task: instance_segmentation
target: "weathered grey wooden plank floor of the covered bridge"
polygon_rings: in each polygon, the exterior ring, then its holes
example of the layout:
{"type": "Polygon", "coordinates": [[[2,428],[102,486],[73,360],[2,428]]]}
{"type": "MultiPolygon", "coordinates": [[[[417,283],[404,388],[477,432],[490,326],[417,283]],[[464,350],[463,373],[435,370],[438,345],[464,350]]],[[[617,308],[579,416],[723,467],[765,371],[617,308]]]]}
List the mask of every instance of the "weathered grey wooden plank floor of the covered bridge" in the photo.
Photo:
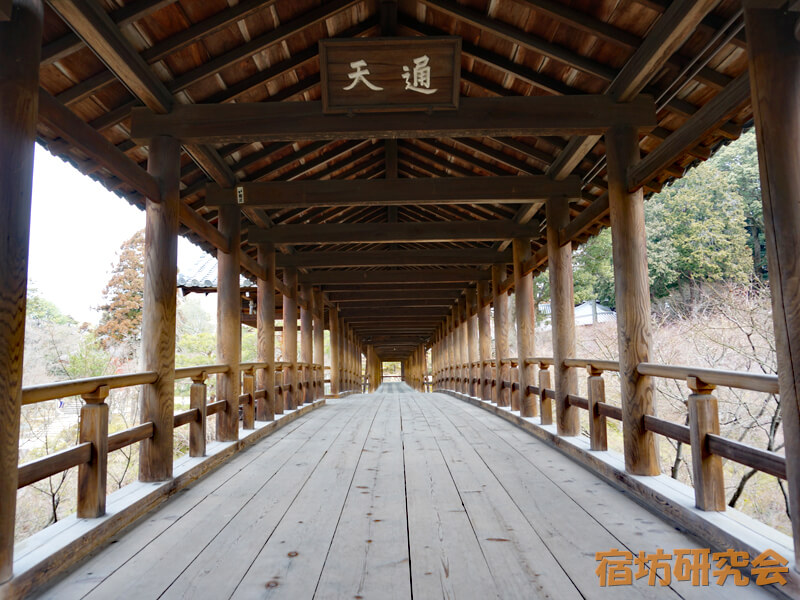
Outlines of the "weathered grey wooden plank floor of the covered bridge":
{"type": "Polygon", "coordinates": [[[395,383],[237,455],[40,597],[773,597],[598,584],[597,551],[701,547],[511,424],[395,383]]]}

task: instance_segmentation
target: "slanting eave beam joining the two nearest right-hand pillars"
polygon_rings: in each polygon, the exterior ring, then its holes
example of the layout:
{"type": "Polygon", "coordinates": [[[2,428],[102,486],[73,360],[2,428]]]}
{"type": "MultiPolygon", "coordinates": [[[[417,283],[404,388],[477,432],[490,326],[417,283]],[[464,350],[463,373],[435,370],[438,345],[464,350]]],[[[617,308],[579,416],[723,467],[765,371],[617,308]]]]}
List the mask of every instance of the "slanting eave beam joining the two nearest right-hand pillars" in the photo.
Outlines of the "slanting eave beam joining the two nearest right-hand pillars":
{"type": "Polygon", "coordinates": [[[673,164],[686,148],[697,144],[749,101],[750,76],[745,71],[631,168],[628,189],[635,191],[644,186],[659,171],[673,164]]]}

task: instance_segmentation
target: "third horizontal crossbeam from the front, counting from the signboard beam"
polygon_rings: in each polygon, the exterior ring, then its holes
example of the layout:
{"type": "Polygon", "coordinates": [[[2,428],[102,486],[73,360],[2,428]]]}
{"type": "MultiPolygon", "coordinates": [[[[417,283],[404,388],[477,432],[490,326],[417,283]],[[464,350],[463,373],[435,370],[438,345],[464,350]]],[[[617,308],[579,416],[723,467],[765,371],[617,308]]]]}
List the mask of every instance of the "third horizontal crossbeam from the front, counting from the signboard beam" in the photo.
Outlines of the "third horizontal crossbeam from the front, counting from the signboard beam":
{"type": "Polygon", "coordinates": [[[538,223],[508,220],[436,221],[423,223],[331,223],[252,228],[248,241],[274,244],[393,244],[507,240],[536,235],[538,223]]]}

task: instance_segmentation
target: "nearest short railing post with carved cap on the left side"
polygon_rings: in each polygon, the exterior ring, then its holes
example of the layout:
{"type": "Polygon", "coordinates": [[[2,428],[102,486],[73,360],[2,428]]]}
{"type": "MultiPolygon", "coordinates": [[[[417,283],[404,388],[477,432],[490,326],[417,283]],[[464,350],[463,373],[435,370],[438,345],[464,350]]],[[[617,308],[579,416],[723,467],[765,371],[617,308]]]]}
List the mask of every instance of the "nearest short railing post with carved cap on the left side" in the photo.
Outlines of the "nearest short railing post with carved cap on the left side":
{"type": "Polygon", "coordinates": [[[82,444],[92,444],[92,458],[78,467],[78,518],[92,519],[106,514],[108,477],[108,386],[101,385],[81,398],[80,435],[82,444]]]}

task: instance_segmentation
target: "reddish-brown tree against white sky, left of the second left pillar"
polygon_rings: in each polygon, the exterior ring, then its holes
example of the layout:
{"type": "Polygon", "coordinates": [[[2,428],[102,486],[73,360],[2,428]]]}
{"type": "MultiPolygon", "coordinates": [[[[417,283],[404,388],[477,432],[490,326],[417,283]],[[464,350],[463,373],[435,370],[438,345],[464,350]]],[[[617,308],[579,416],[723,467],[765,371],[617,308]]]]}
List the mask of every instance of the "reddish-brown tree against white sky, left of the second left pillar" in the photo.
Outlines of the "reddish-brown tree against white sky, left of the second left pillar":
{"type": "Polygon", "coordinates": [[[120,246],[119,259],[111,272],[100,307],[103,316],[97,336],[105,347],[141,339],[144,302],[144,230],[120,246]]]}

